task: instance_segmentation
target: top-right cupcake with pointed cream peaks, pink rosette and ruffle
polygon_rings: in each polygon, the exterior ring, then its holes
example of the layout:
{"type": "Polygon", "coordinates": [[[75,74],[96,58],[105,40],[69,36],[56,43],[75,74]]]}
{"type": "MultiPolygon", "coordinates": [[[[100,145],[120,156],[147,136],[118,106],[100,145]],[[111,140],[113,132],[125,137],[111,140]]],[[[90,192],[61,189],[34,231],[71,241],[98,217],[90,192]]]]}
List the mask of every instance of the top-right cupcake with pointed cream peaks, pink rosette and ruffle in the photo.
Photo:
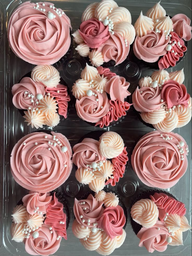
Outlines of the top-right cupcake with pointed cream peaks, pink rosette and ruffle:
{"type": "Polygon", "coordinates": [[[184,14],[171,18],[160,2],[141,14],[134,24],[133,51],[137,59],[155,69],[175,67],[187,51],[191,39],[190,19],[184,14]]]}

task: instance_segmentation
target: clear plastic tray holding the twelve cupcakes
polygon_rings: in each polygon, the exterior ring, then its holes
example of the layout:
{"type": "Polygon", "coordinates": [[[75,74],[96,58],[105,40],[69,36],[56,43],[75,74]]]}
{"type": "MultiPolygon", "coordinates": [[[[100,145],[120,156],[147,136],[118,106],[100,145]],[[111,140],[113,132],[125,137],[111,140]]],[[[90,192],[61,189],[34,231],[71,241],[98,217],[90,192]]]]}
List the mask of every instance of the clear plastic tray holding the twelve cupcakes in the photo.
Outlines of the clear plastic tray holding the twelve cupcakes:
{"type": "MultiPolygon", "coordinates": [[[[23,1],[22,1],[23,2],[23,1]]],[[[81,23],[81,15],[86,6],[92,2],[92,0],[71,0],[71,1],[49,1],[54,2],[56,7],[62,8],[65,13],[71,19],[73,31],[79,28],[81,23]]],[[[143,13],[153,6],[152,3],[145,2],[131,2],[131,1],[116,1],[119,6],[126,7],[129,9],[132,16],[132,24],[136,21],[140,15],[141,10],[143,13]]],[[[15,8],[19,6],[21,1],[15,0],[9,4],[5,12],[6,26],[8,24],[11,13],[15,8]]],[[[184,13],[191,18],[191,10],[182,4],[168,4],[163,3],[163,7],[166,9],[167,14],[173,16],[178,13],[184,13]]],[[[60,72],[61,77],[72,86],[76,79],[80,77],[81,69],[83,68],[83,60],[79,58],[76,51],[74,51],[75,44],[67,58],[57,64],[57,68],[60,72]]],[[[10,51],[8,42],[5,44],[5,60],[6,60],[6,72],[5,72],[5,127],[6,127],[6,141],[5,141],[5,182],[4,182],[4,237],[3,243],[7,250],[14,255],[27,256],[23,243],[16,243],[11,240],[10,226],[11,226],[11,211],[17,202],[28,193],[28,191],[20,187],[15,181],[10,172],[10,153],[15,143],[26,134],[35,131],[31,127],[24,123],[24,119],[20,113],[16,110],[12,103],[11,87],[17,83],[20,78],[32,70],[33,65],[22,61],[10,51]]],[[[1,63],[0,63],[1,65],[1,63]]],[[[183,61],[181,61],[176,68],[171,68],[168,72],[182,69],[184,67],[185,81],[184,84],[187,86],[187,90],[191,95],[191,41],[188,43],[187,54],[183,61]]],[[[127,76],[127,80],[130,80],[131,85],[129,87],[130,92],[133,92],[138,84],[138,80],[141,76],[151,75],[152,70],[146,67],[137,67],[134,63],[125,61],[120,67],[114,67],[113,71],[118,74],[127,76]],[[141,72],[140,72],[141,71],[141,72]]],[[[89,126],[76,115],[74,107],[71,108],[67,120],[61,121],[61,123],[54,129],[54,131],[63,133],[70,141],[71,147],[73,147],[78,140],[86,133],[97,130],[93,126],[89,126]]],[[[49,129],[50,130],[50,129],[49,129]]],[[[135,175],[130,165],[130,154],[133,147],[140,137],[145,133],[152,131],[151,128],[146,127],[142,124],[137,117],[135,112],[130,110],[128,115],[119,122],[116,126],[109,127],[108,130],[117,131],[124,139],[125,145],[128,149],[129,162],[126,168],[124,177],[120,179],[116,187],[108,186],[107,189],[116,190],[118,195],[124,201],[129,213],[130,203],[134,198],[143,190],[149,189],[149,187],[143,185],[135,175]]],[[[186,217],[191,223],[191,122],[182,127],[181,129],[175,129],[174,132],[179,133],[188,142],[189,156],[188,156],[188,170],[180,181],[170,191],[175,197],[185,203],[187,208],[186,217]]],[[[68,202],[70,208],[70,225],[67,230],[68,240],[64,239],[61,242],[61,246],[55,255],[98,255],[96,252],[87,251],[80,243],[79,239],[75,238],[71,226],[74,219],[73,214],[73,203],[75,196],[81,196],[89,190],[88,186],[80,185],[75,179],[75,168],[73,167],[72,173],[69,179],[60,187],[58,191],[65,196],[65,200],[68,202]]],[[[1,200],[1,199],[0,199],[1,200]]],[[[129,216],[129,214],[128,214],[129,216]]],[[[124,244],[116,249],[111,255],[151,255],[145,248],[138,247],[139,239],[131,229],[129,220],[125,231],[127,236],[124,244]]],[[[166,252],[158,253],[155,252],[153,255],[189,255],[188,248],[191,245],[191,231],[187,231],[183,236],[184,246],[168,246],[166,252]]]]}

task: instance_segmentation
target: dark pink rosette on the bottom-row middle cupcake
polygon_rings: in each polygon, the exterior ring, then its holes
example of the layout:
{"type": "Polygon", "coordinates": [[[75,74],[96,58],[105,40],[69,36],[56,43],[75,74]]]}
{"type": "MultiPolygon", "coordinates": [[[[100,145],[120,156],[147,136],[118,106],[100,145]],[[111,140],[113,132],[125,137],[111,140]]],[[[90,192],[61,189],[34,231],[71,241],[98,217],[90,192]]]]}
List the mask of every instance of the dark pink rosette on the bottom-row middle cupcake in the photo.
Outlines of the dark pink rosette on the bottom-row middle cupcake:
{"type": "Polygon", "coordinates": [[[123,234],[125,222],[124,211],[120,205],[105,208],[103,214],[99,220],[97,220],[98,226],[103,229],[111,239],[123,234]]]}

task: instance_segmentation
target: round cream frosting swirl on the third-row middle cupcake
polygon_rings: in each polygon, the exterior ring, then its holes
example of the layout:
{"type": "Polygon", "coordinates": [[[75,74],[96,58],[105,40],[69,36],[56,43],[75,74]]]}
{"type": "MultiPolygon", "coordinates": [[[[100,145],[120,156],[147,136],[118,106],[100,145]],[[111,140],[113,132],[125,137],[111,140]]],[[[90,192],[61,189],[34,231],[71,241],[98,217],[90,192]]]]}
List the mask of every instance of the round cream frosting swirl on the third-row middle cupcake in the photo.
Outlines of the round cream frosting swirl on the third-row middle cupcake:
{"type": "Polygon", "coordinates": [[[99,152],[106,158],[115,158],[120,155],[124,149],[124,142],[121,136],[116,132],[105,132],[99,138],[99,152]]]}

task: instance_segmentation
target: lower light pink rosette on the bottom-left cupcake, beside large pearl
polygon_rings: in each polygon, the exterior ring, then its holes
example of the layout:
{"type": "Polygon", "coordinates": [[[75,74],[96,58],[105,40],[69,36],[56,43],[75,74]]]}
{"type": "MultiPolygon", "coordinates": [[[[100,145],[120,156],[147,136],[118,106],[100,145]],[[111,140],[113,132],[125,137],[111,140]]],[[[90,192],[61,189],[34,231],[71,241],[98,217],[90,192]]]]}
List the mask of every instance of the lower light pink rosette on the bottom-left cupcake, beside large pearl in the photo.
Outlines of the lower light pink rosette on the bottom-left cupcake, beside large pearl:
{"type": "Polygon", "coordinates": [[[57,240],[57,232],[53,230],[53,233],[50,233],[50,226],[43,225],[38,229],[39,236],[38,238],[29,238],[25,239],[25,250],[31,255],[43,255],[48,256],[50,254],[55,254],[59,249],[61,237],[57,240]]]}

